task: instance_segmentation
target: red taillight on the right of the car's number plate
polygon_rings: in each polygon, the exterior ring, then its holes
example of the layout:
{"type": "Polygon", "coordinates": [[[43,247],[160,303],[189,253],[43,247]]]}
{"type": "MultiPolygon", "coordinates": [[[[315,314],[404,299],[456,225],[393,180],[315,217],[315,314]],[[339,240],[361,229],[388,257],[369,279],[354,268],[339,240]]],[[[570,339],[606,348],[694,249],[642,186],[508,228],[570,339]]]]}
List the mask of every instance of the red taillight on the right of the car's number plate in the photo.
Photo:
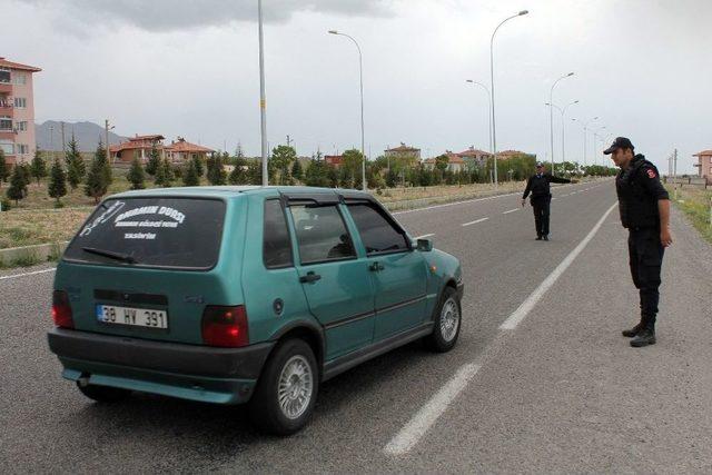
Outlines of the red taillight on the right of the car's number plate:
{"type": "Polygon", "coordinates": [[[208,305],[202,313],[202,343],[210,346],[237,347],[249,343],[245,307],[208,305]]]}

